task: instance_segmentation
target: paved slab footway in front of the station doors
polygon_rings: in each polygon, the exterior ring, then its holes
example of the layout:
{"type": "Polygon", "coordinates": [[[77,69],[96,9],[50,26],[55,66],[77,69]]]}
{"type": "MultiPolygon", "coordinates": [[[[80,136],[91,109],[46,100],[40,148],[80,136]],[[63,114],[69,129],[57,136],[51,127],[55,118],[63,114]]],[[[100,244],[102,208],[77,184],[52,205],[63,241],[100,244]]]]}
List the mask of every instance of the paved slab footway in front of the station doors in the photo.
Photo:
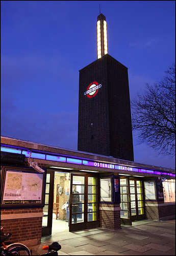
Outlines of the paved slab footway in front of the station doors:
{"type": "Polygon", "coordinates": [[[53,242],[62,246],[59,255],[175,255],[175,220],[133,222],[121,229],[93,228],[63,231],[42,237],[41,244],[29,247],[32,255],[53,242]]]}

